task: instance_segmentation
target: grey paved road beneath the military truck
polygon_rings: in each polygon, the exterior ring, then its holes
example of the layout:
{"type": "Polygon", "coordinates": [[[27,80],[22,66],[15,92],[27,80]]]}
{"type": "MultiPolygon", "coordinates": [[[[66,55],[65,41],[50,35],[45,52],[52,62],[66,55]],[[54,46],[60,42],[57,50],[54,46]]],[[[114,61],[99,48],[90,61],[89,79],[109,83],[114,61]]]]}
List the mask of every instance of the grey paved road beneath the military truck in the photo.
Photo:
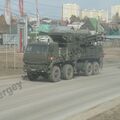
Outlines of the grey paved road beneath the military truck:
{"type": "Polygon", "coordinates": [[[0,120],[64,120],[120,96],[120,64],[96,76],[50,83],[22,78],[0,80],[0,91],[22,82],[22,89],[0,99],[0,120]]]}

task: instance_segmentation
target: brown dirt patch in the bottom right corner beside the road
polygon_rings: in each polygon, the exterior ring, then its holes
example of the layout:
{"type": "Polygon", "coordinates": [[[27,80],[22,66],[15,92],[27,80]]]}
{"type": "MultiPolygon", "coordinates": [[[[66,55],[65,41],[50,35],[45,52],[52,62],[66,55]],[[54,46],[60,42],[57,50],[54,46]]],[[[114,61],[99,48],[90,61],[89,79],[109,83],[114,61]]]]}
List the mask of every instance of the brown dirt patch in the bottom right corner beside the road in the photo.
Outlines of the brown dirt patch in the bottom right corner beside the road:
{"type": "Polygon", "coordinates": [[[120,120],[120,105],[88,120],[120,120]]]}

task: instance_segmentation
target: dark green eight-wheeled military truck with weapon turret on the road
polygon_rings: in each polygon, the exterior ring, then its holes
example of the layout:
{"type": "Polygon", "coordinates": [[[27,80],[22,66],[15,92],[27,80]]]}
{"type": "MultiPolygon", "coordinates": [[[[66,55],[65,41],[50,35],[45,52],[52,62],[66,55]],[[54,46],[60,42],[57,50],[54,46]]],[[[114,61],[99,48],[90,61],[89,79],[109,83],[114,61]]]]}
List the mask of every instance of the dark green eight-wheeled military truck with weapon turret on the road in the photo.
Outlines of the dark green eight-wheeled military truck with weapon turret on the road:
{"type": "Polygon", "coordinates": [[[44,76],[57,82],[70,80],[79,73],[96,75],[103,66],[102,41],[102,35],[86,32],[41,33],[24,53],[28,78],[44,76]]]}

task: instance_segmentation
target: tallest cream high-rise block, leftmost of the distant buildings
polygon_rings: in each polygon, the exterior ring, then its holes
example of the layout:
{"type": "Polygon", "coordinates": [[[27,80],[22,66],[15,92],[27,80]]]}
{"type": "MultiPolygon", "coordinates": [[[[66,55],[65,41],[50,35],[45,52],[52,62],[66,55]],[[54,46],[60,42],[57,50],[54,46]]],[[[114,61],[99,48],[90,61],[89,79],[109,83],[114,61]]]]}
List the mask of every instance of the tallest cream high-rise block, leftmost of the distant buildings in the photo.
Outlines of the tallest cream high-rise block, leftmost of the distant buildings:
{"type": "Polygon", "coordinates": [[[72,15],[80,16],[80,6],[77,4],[63,4],[63,20],[70,20],[72,15]]]}

